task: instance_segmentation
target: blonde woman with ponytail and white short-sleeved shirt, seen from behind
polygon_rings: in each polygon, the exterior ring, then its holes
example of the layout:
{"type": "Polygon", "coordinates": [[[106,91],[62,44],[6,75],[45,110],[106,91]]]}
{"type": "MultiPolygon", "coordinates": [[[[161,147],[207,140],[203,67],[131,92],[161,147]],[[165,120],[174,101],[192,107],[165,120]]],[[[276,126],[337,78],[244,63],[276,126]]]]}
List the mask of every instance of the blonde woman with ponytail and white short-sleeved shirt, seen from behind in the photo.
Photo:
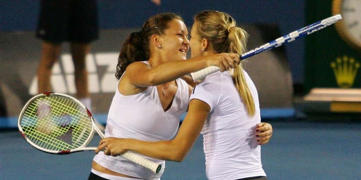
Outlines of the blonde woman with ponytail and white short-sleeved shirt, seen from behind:
{"type": "MultiPolygon", "coordinates": [[[[246,43],[247,33],[229,14],[207,10],[195,16],[190,40],[192,58],[242,54],[246,43]]],[[[188,113],[174,139],[105,138],[96,153],[106,148],[106,155],[117,156],[130,150],[180,162],[201,133],[208,179],[266,180],[260,145],[269,141],[272,129],[261,123],[257,90],[251,78],[241,64],[232,70],[209,75],[193,88],[188,113]]]]}

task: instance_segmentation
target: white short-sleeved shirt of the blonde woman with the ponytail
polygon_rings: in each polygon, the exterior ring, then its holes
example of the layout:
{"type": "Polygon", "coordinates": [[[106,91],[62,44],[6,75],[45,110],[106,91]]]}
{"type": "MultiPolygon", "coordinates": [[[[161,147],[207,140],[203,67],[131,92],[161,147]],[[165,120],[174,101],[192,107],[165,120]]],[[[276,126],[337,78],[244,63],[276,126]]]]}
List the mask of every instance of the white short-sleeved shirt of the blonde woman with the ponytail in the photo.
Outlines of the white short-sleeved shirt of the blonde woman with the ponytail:
{"type": "Polygon", "coordinates": [[[202,100],[211,108],[201,131],[209,180],[266,176],[261,146],[256,140],[256,124],[261,122],[258,94],[251,78],[243,72],[255,101],[253,117],[248,116],[228,72],[209,75],[194,87],[190,97],[202,100]]]}

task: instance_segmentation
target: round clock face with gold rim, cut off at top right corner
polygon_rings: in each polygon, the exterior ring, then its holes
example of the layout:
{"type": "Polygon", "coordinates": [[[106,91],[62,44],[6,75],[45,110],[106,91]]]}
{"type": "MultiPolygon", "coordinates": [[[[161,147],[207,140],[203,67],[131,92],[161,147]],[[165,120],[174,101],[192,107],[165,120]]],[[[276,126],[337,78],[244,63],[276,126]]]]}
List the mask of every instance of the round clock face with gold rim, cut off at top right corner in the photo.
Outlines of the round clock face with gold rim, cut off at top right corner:
{"type": "Polygon", "coordinates": [[[334,0],[332,11],[342,15],[342,20],[336,23],[340,35],[361,49],[361,0],[334,0]]]}

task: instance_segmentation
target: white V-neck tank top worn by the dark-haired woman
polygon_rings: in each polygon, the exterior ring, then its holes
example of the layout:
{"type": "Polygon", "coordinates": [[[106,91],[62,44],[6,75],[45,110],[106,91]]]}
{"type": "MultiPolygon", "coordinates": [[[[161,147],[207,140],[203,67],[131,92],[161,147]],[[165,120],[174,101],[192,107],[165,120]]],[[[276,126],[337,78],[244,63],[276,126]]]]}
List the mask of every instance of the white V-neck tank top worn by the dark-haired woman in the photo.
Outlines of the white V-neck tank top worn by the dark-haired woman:
{"type": "MultiPolygon", "coordinates": [[[[122,95],[117,90],[106,120],[105,137],[133,138],[144,141],[173,138],[177,133],[179,120],[187,110],[189,99],[187,83],[181,79],[177,79],[176,82],[177,93],[166,112],[160,103],[156,86],[149,86],[144,92],[129,96],[122,95]]],[[[158,174],[120,156],[112,157],[99,153],[93,160],[109,170],[128,176],[160,179],[164,172],[165,161],[146,158],[162,164],[162,169],[158,174]]]]}

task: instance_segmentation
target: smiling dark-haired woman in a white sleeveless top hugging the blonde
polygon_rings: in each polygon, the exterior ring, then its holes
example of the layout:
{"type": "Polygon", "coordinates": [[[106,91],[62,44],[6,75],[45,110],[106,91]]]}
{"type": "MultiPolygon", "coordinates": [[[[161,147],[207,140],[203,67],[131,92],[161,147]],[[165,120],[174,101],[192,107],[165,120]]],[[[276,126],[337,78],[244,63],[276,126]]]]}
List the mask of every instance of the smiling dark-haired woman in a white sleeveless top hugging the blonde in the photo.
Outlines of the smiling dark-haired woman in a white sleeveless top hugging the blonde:
{"type": "MultiPolygon", "coordinates": [[[[173,13],[147,19],[142,30],[131,33],[121,48],[116,93],[110,105],[105,136],[145,141],[169,140],[188,107],[192,87],[179,79],[209,66],[226,71],[240,62],[236,53],[220,53],[186,60],[188,31],[183,19],[173,13]]],[[[164,160],[154,174],[123,157],[97,154],[89,176],[94,179],[160,179],[164,160]]]]}

